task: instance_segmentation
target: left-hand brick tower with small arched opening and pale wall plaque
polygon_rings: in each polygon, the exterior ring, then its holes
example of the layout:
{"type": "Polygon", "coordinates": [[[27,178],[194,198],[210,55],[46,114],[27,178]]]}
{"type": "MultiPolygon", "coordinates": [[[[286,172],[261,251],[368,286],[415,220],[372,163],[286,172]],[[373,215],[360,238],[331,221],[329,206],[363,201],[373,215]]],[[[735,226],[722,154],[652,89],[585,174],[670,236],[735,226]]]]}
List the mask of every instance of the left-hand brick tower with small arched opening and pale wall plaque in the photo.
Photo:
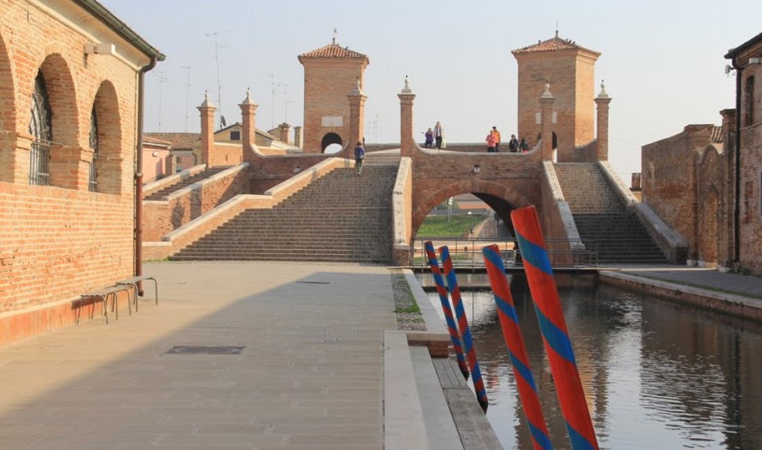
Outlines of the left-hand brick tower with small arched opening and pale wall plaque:
{"type": "Polygon", "coordinates": [[[339,46],[334,38],[327,46],[299,55],[299,62],[304,65],[304,152],[347,145],[351,138],[347,94],[357,88],[358,80],[363,88],[370,59],[339,46]]]}

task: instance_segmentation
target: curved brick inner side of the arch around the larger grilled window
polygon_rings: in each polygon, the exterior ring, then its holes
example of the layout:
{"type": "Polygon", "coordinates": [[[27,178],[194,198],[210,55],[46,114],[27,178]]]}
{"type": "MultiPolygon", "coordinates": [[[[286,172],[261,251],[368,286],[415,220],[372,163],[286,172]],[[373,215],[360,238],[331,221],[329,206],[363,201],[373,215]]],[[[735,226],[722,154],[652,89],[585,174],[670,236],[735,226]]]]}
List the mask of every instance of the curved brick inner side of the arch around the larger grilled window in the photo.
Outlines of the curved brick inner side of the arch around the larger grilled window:
{"type": "Polygon", "coordinates": [[[40,65],[38,75],[50,104],[50,184],[77,189],[80,119],[72,72],[66,59],[52,53],[40,65]]]}

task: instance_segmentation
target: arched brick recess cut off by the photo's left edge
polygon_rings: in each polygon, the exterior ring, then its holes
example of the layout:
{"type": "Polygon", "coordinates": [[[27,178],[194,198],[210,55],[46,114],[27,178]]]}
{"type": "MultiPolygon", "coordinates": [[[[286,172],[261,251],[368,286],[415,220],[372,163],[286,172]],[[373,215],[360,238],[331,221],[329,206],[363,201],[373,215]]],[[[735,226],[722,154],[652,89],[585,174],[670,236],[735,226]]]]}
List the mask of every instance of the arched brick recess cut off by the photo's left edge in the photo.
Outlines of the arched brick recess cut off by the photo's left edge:
{"type": "Polygon", "coordinates": [[[16,152],[15,142],[6,142],[16,131],[16,89],[11,73],[11,59],[8,57],[8,47],[5,46],[3,28],[0,27],[0,181],[12,181],[13,168],[11,161],[16,152]]]}

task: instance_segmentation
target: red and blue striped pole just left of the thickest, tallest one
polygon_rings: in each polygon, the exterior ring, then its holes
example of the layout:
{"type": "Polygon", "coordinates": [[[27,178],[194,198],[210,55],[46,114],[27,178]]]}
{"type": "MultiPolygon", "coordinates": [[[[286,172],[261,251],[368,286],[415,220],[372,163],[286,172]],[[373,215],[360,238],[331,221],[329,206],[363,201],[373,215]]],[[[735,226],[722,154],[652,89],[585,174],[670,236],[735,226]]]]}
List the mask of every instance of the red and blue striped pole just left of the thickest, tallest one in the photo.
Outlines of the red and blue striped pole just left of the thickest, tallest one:
{"type": "Polygon", "coordinates": [[[527,348],[524,346],[519,317],[516,313],[514,298],[511,295],[511,287],[505,277],[505,266],[500,257],[500,249],[492,244],[482,248],[484,263],[489,276],[489,284],[492,286],[492,294],[495,296],[495,304],[498,305],[498,318],[503,330],[505,346],[508,349],[508,357],[516,377],[516,385],[527,416],[529,431],[532,435],[532,443],[536,450],[551,450],[548,427],[543,416],[543,408],[539,404],[537,385],[534,382],[532,370],[529,364],[527,348]]]}

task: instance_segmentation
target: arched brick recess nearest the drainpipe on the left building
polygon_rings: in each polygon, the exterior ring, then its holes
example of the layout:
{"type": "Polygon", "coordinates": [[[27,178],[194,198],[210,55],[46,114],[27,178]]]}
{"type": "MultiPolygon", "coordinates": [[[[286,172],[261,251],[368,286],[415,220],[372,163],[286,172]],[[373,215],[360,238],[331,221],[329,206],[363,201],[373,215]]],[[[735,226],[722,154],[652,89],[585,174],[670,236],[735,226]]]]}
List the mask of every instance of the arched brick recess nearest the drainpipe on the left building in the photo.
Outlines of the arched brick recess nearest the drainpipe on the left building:
{"type": "Polygon", "coordinates": [[[111,81],[102,81],[98,87],[92,106],[90,129],[92,167],[96,175],[94,190],[118,194],[121,192],[123,170],[122,120],[117,90],[111,81]],[[93,121],[97,126],[93,126],[93,121]],[[93,145],[96,147],[93,148],[93,145]]]}

